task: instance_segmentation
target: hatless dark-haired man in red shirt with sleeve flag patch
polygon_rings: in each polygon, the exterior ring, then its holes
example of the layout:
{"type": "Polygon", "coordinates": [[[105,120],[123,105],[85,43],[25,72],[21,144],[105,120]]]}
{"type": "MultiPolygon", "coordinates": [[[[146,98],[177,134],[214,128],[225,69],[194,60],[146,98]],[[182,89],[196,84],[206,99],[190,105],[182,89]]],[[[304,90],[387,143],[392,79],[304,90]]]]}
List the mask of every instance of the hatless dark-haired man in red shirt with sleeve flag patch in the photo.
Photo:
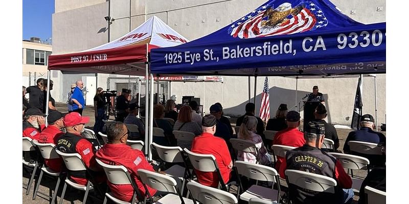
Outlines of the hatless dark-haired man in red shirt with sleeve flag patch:
{"type": "MultiPolygon", "coordinates": [[[[138,177],[138,169],[146,169],[155,171],[153,167],[146,161],[145,155],[138,149],[132,149],[126,145],[128,139],[128,130],[124,123],[115,122],[108,126],[107,129],[108,143],[105,144],[96,153],[96,157],[102,162],[109,165],[122,165],[128,169],[132,179],[138,186],[138,191],[142,196],[146,196],[145,188],[142,181],[138,177]]],[[[116,198],[130,202],[133,195],[133,187],[130,184],[111,184],[107,181],[109,189],[116,198]]],[[[155,189],[148,185],[149,194],[153,196],[156,193],[155,189]]],[[[138,200],[143,198],[138,197],[138,200]]]]}

